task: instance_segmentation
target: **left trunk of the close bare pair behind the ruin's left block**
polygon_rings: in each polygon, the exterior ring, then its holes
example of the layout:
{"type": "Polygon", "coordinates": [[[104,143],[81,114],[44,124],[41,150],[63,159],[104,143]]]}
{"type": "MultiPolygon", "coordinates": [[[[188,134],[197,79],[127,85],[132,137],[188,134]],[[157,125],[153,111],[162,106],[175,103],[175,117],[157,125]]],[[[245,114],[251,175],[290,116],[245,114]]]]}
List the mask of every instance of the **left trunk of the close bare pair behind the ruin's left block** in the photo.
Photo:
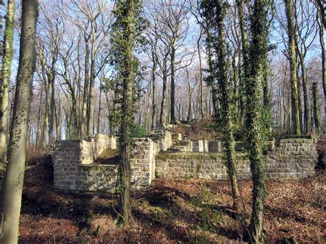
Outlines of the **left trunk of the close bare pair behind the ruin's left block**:
{"type": "Polygon", "coordinates": [[[84,81],[84,95],[83,95],[83,109],[81,116],[81,135],[87,134],[87,115],[88,115],[88,98],[89,98],[89,45],[87,38],[85,38],[86,53],[85,53],[85,81],[84,81]]]}

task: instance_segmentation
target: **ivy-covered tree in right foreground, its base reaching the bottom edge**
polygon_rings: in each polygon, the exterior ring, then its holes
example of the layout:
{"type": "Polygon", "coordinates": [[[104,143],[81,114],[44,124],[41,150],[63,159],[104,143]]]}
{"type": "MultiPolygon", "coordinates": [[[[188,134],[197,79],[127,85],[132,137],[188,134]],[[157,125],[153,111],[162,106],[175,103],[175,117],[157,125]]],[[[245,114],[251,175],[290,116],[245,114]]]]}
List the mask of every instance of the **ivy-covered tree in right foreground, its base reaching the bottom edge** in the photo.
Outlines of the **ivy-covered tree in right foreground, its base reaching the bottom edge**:
{"type": "Polygon", "coordinates": [[[255,0],[250,14],[250,47],[248,77],[246,77],[247,131],[250,169],[252,173],[252,241],[263,241],[263,205],[265,201],[265,162],[262,153],[261,98],[264,65],[268,51],[268,0],[255,0]]]}

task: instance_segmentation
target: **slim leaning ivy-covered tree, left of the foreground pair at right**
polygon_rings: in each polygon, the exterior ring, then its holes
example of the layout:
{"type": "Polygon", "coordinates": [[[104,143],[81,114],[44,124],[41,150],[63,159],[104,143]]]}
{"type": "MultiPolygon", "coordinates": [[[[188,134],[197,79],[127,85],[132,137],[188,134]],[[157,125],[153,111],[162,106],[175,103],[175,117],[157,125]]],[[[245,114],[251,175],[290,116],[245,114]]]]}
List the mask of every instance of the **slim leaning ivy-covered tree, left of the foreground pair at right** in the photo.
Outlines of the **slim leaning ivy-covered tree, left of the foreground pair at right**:
{"type": "Polygon", "coordinates": [[[224,132],[224,153],[226,156],[226,165],[228,167],[228,175],[230,178],[233,206],[237,207],[239,200],[239,186],[237,182],[237,174],[235,171],[235,140],[232,133],[232,116],[231,116],[231,78],[230,78],[230,62],[228,60],[228,47],[226,44],[226,30],[224,20],[228,8],[228,3],[224,0],[207,0],[202,1],[202,14],[206,19],[213,21],[210,25],[212,30],[211,45],[216,54],[215,56],[215,72],[213,73],[217,85],[219,86],[219,104],[221,105],[221,118],[215,116],[217,122],[221,122],[224,132]]]}

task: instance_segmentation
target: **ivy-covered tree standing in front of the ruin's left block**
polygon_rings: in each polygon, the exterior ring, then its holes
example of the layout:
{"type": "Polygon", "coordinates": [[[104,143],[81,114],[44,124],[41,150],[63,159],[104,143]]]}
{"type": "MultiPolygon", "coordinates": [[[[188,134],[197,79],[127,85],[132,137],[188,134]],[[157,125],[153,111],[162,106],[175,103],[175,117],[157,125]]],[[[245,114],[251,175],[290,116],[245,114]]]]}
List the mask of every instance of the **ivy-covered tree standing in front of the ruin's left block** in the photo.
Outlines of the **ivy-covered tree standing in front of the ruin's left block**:
{"type": "Polygon", "coordinates": [[[116,3],[116,22],[111,38],[111,61],[116,69],[116,93],[120,98],[120,153],[122,164],[118,188],[120,190],[120,217],[124,224],[131,223],[131,131],[135,117],[134,87],[138,80],[138,61],[134,56],[136,38],[141,38],[142,18],[140,0],[122,0],[116,3]],[[137,79],[136,79],[137,78],[137,79]]]}

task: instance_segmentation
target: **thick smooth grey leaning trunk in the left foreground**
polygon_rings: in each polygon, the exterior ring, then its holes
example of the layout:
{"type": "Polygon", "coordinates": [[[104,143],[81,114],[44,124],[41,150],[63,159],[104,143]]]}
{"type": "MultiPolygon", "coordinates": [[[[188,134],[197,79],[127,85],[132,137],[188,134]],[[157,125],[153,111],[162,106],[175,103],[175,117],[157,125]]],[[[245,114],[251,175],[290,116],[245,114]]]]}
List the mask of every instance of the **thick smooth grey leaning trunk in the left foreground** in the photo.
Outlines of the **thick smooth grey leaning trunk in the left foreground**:
{"type": "Polygon", "coordinates": [[[8,168],[3,181],[1,243],[18,242],[21,193],[26,161],[26,139],[35,65],[37,12],[37,0],[23,0],[17,88],[12,113],[8,168]]]}

